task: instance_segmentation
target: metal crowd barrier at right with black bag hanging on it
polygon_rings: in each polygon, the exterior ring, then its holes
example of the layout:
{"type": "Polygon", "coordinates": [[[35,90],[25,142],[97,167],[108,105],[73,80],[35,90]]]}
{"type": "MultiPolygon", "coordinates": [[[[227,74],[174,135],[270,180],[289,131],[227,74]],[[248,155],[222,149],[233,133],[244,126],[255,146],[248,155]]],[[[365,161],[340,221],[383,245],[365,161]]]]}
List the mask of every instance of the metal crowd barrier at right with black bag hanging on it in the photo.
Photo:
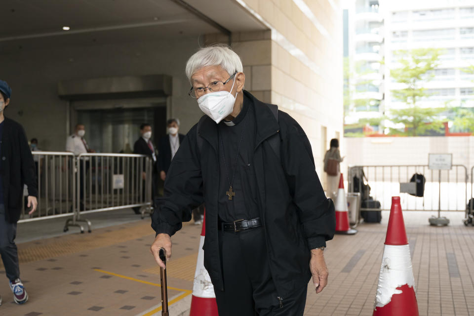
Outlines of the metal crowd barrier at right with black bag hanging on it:
{"type": "Polygon", "coordinates": [[[348,169],[349,192],[361,192],[357,186],[361,182],[355,183],[355,177],[362,180],[363,175],[371,188],[370,197],[380,201],[382,210],[390,210],[392,196],[400,196],[403,210],[465,212],[468,197],[473,194],[464,165],[453,165],[451,170],[431,170],[428,165],[352,166],[348,169]],[[400,194],[400,183],[410,182],[415,173],[426,178],[424,196],[400,194]]]}

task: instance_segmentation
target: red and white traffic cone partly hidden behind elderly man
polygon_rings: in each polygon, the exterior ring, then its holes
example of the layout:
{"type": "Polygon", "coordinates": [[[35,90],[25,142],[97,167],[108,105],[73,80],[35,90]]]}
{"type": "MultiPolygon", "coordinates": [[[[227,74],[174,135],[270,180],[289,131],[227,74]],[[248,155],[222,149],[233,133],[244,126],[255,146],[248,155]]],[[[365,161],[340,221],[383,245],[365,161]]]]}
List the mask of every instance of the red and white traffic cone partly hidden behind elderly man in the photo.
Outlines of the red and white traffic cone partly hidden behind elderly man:
{"type": "Polygon", "coordinates": [[[199,253],[197,254],[196,273],[194,274],[193,297],[191,299],[190,316],[218,316],[216,295],[211,278],[204,268],[204,235],[206,232],[206,213],[202,220],[201,238],[199,241],[199,253]]]}

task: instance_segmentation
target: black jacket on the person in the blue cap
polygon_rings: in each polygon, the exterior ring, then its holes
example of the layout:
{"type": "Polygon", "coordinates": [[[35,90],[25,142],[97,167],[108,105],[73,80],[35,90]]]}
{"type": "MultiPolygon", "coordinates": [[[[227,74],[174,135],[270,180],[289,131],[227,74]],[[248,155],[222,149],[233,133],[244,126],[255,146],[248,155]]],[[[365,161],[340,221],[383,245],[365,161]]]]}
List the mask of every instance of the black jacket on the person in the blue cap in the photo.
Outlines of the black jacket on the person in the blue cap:
{"type": "Polygon", "coordinates": [[[23,186],[28,195],[38,197],[36,166],[23,127],[12,119],[3,121],[0,173],[7,220],[16,223],[22,208],[23,186]]]}

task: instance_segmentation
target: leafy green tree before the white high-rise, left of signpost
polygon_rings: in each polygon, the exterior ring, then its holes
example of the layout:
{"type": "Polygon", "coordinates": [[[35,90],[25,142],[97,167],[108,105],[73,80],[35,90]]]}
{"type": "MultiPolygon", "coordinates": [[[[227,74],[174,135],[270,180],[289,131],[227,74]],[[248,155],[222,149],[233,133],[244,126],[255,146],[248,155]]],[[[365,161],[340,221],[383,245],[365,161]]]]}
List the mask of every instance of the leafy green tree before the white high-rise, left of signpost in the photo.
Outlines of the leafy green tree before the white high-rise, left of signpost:
{"type": "Polygon", "coordinates": [[[421,98],[429,96],[423,84],[433,79],[430,74],[438,65],[440,50],[435,48],[417,48],[399,50],[399,67],[392,69],[390,75],[395,82],[403,87],[392,90],[395,99],[407,105],[406,109],[391,110],[390,120],[404,124],[404,130],[391,128],[391,133],[406,136],[423,135],[428,131],[439,131],[443,128],[439,114],[446,111],[445,107],[421,108],[417,105],[421,98]]]}

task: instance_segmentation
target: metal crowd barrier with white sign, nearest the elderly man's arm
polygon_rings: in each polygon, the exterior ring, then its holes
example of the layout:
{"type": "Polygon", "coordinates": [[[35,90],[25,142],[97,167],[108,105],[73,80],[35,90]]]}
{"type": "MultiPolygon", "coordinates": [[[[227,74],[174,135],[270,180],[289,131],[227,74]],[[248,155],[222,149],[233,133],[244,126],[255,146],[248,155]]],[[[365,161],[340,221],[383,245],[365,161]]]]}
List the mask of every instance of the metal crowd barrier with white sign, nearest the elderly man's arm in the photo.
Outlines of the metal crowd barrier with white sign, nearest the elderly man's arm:
{"type": "MultiPolygon", "coordinates": [[[[133,154],[80,154],[77,159],[76,209],[68,226],[91,223],[81,214],[139,207],[142,218],[152,208],[152,160],[133,154]]],[[[82,228],[81,228],[82,230],[82,228]]]]}

